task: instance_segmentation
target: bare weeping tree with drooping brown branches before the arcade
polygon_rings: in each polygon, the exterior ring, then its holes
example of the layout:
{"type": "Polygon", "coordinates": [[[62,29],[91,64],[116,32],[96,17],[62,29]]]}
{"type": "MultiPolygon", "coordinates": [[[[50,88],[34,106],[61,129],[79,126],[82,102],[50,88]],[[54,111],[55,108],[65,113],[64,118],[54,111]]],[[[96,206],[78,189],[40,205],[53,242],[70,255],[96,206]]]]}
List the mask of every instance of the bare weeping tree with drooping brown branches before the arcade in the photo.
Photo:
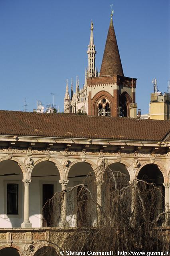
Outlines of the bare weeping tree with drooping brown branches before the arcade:
{"type": "Polygon", "coordinates": [[[91,175],[83,183],[55,193],[47,201],[45,207],[51,232],[48,241],[38,242],[40,247],[46,246],[42,252],[40,250],[41,256],[55,255],[55,252],[49,252],[51,246],[57,252],[61,249],[78,252],[113,250],[115,253],[118,250],[168,251],[168,234],[162,228],[165,212],[158,212],[158,201],[163,200],[159,188],[144,180],[129,184],[127,176],[112,170],[107,161],[101,166],[101,205],[97,202],[97,185],[91,175]],[[53,227],[62,224],[61,208],[65,194],[68,228],[56,229],[53,227]]]}

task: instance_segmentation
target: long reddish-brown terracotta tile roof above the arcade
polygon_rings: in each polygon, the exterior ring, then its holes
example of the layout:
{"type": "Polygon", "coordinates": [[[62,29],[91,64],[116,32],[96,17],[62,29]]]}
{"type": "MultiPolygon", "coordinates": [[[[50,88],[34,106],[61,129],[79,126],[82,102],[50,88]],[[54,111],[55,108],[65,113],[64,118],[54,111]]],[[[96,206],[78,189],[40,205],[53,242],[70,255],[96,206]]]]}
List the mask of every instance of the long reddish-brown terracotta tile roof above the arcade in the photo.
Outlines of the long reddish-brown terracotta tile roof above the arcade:
{"type": "Polygon", "coordinates": [[[0,135],[161,141],[170,121],[0,110],[0,135]]]}

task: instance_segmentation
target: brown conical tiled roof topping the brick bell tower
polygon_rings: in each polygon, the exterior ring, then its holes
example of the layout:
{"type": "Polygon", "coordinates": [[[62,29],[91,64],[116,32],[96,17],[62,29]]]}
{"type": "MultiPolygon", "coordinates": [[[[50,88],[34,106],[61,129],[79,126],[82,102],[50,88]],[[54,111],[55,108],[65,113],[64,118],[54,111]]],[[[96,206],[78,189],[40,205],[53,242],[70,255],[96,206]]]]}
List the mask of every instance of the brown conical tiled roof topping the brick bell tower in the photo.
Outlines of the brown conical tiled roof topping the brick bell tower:
{"type": "Polygon", "coordinates": [[[112,17],[111,17],[111,22],[110,22],[106,45],[105,45],[105,51],[103,54],[103,60],[101,64],[100,76],[112,76],[112,75],[124,76],[123,68],[121,64],[121,58],[119,55],[119,49],[117,46],[115,30],[113,26],[112,17]]]}

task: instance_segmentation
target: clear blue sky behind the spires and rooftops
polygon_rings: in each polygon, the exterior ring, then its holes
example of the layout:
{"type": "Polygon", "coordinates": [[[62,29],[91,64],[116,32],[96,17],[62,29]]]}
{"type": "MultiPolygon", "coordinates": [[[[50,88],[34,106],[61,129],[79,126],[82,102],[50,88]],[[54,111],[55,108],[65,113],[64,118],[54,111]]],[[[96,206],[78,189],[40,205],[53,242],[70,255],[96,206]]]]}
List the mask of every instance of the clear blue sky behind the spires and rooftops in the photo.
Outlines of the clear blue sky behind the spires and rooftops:
{"type": "Polygon", "coordinates": [[[63,111],[66,79],[84,83],[90,23],[101,67],[110,4],[125,76],[138,78],[136,102],[148,112],[152,79],[170,79],[169,0],[0,0],[0,109],[27,110],[53,102],[63,111]]]}

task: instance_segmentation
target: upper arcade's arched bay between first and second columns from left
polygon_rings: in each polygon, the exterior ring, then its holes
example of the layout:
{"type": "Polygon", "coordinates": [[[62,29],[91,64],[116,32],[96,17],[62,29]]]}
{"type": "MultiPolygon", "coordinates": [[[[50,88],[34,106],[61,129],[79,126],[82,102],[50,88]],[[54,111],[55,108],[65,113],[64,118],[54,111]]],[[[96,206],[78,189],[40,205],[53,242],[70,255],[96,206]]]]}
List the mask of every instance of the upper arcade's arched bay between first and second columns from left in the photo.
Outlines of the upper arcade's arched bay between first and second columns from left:
{"type": "MultiPolygon", "coordinates": [[[[49,227],[52,224],[53,201],[61,191],[59,180],[65,180],[61,164],[53,158],[39,158],[30,170],[30,221],[33,227],[49,227]],[[49,204],[47,203],[49,202],[49,204]],[[51,202],[51,203],[50,203],[51,202]],[[46,204],[47,203],[47,204],[46,204]],[[50,206],[49,206],[50,205],[50,206]]],[[[59,210],[59,208],[58,208],[59,210]]],[[[58,225],[58,219],[55,226],[58,225]]]]}

